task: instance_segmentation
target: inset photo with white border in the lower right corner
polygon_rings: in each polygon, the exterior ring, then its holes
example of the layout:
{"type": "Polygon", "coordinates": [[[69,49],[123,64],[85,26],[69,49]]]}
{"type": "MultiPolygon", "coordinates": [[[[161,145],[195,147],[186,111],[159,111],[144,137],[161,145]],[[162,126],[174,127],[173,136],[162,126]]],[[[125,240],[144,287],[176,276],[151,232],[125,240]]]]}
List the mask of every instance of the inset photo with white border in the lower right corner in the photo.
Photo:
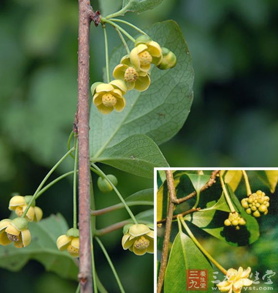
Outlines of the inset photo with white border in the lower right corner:
{"type": "Polygon", "coordinates": [[[278,292],[278,170],[156,169],[157,293],[278,292]]]}

